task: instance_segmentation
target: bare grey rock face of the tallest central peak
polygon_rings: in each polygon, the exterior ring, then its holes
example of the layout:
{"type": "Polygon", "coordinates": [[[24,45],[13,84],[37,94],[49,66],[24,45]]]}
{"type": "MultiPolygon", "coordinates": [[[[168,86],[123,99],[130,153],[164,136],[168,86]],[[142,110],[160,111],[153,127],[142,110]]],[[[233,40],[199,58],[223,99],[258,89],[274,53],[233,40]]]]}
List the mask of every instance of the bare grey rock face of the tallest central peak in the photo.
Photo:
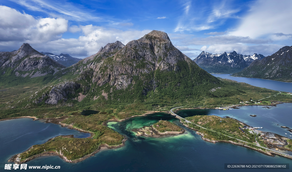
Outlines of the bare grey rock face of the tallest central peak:
{"type": "Polygon", "coordinates": [[[165,32],[154,30],[138,40],[130,41],[113,58],[91,66],[95,71],[92,82],[96,82],[98,86],[110,83],[111,86],[117,86],[117,89],[125,89],[132,83],[133,76],[158,69],[176,71],[178,69],[175,64],[179,61],[195,65],[172,45],[165,32]],[[105,68],[108,70],[105,71],[105,68]]]}

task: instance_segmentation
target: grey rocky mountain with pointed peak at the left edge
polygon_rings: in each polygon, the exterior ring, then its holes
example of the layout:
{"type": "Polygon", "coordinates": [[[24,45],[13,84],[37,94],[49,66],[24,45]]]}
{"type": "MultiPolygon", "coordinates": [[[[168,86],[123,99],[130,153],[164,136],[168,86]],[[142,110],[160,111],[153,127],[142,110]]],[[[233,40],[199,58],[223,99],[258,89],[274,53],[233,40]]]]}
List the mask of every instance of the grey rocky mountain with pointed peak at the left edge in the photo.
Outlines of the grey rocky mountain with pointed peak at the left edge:
{"type": "Polygon", "coordinates": [[[0,52],[1,80],[10,76],[39,77],[55,74],[65,66],[52,60],[47,55],[39,53],[29,44],[23,44],[17,51],[0,52]]]}

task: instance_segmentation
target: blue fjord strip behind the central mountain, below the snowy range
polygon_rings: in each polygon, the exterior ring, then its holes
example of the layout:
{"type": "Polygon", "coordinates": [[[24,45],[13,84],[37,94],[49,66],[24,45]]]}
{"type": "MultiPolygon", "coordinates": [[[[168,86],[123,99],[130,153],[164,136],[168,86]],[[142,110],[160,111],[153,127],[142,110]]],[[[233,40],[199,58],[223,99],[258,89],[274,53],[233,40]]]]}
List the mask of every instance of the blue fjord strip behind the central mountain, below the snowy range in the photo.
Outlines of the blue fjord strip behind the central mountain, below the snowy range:
{"type": "Polygon", "coordinates": [[[292,83],[273,81],[267,79],[258,78],[243,78],[243,77],[232,77],[230,74],[212,74],[215,77],[232,79],[238,82],[245,82],[257,87],[268,88],[277,91],[292,92],[292,83]]]}

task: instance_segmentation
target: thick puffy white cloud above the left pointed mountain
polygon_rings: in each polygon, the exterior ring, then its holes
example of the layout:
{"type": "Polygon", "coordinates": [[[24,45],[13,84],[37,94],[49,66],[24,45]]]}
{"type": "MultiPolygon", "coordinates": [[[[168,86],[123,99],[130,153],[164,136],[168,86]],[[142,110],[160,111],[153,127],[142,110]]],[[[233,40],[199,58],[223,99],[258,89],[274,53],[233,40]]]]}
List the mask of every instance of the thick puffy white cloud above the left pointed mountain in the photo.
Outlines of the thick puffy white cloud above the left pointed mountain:
{"type": "MultiPolygon", "coordinates": [[[[0,6],[0,43],[27,41],[42,43],[59,39],[67,31],[68,21],[62,18],[39,18],[0,6]]],[[[7,43],[6,43],[7,44],[7,43]]]]}

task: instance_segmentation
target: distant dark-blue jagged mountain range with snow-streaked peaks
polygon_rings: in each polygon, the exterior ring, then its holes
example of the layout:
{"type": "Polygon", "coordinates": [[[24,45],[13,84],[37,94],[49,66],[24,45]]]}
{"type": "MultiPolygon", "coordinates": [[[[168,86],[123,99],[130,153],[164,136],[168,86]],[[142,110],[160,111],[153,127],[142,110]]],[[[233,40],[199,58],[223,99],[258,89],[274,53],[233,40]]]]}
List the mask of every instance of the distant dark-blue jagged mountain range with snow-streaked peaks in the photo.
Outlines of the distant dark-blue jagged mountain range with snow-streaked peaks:
{"type": "Polygon", "coordinates": [[[235,73],[247,67],[253,60],[262,58],[263,55],[256,53],[251,56],[237,54],[235,51],[221,54],[203,51],[194,62],[209,73],[235,73]]]}

